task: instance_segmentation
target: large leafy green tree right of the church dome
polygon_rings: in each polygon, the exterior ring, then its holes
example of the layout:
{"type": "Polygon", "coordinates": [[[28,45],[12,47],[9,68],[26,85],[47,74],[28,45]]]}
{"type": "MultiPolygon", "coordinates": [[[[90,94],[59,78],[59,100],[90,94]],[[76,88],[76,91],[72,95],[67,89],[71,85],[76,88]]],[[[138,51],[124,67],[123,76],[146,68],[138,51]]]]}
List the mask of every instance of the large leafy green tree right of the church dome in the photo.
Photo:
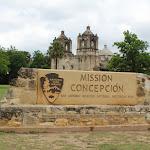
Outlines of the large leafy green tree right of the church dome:
{"type": "Polygon", "coordinates": [[[145,51],[148,42],[138,39],[137,35],[129,32],[124,33],[123,42],[115,42],[120,54],[115,54],[109,61],[107,68],[114,71],[144,72],[150,69],[150,54],[145,51]]]}

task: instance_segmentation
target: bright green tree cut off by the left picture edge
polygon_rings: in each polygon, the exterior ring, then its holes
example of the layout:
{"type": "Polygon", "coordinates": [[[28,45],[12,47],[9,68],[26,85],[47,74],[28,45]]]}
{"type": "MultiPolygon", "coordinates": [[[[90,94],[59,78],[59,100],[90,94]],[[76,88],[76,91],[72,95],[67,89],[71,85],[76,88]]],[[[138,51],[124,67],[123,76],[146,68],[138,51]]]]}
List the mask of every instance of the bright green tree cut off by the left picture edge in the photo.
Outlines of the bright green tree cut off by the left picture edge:
{"type": "Polygon", "coordinates": [[[5,49],[1,48],[0,49],[0,74],[6,74],[9,71],[9,59],[8,56],[6,55],[5,49]]]}

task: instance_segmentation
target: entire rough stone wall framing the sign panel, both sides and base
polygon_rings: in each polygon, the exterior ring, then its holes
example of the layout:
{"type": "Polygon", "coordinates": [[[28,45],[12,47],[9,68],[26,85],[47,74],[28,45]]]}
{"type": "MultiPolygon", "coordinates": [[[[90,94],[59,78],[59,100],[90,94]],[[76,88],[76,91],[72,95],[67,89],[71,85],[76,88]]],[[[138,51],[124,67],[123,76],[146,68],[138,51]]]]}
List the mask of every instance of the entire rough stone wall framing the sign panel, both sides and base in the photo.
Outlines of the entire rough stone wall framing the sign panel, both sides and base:
{"type": "Polygon", "coordinates": [[[96,127],[150,124],[150,76],[137,74],[137,104],[36,105],[37,69],[21,68],[0,105],[0,126],[96,127]],[[28,104],[28,105],[27,105],[28,104]]]}

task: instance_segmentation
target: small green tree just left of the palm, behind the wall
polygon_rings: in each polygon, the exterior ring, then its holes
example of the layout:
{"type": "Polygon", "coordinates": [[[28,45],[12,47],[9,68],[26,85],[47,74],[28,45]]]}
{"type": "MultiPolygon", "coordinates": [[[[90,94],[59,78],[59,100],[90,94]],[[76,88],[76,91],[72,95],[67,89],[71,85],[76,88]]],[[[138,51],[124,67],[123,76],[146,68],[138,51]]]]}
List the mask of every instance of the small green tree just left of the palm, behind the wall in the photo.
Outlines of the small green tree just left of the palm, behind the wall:
{"type": "Polygon", "coordinates": [[[32,59],[33,61],[30,64],[30,68],[43,68],[43,69],[50,68],[50,66],[47,63],[46,56],[44,56],[40,50],[34,51],[32,59]]]}

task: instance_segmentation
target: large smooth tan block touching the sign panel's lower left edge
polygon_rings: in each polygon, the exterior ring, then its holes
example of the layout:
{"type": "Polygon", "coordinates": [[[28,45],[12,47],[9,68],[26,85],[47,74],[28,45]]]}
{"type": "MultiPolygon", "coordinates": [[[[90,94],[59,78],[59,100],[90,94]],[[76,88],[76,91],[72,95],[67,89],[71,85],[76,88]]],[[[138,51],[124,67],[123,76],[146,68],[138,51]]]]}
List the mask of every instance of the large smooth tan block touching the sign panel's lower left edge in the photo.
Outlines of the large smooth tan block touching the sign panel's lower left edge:
{"type": "Polygon", "coordinates": [[[36,104],[36,92],[24,91],[19,96],[20,104],[36,104]]]}

